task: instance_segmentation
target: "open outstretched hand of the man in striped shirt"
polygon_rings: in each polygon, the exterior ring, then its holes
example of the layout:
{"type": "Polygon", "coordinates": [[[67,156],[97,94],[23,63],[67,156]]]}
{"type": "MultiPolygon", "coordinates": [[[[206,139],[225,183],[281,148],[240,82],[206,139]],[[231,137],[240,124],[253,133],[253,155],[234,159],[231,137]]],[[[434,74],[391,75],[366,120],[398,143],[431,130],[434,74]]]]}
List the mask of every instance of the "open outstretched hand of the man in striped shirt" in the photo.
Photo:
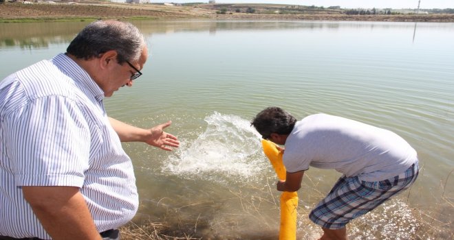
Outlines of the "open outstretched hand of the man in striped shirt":
{"type": "Polygon", "coordinates": [[[164,132],[164,128],[169,127],[172,124],[172,121],[168,121],[166,123],[162,123],[157,125],[153,128],[150,128],[150,136],[145,140],[145,143],[159,147],[160,149],[166,151],[172,151],[171,147],[178,147],[180,146],[180,141],[178,141],[176,136],[164,132]]]}

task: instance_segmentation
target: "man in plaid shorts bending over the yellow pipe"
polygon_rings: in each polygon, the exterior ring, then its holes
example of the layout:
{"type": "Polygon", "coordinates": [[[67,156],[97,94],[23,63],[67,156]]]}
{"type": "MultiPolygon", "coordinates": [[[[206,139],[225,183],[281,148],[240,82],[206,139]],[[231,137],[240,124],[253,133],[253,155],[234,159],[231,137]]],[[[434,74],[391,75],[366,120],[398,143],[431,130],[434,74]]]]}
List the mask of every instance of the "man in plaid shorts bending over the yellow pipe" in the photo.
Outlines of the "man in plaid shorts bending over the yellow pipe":
{"type": "Polygon", "coordinates": [[[298,191],[310,166],[336,169],[343,176],[310,213],[322,240],[348,239],[352,219],[402,192],[418,177],[418,157],[397,134],[351,119],[325,114],[296,121],[285,110],[262,110],[252,125],[263,139],[285,145],[285,181],[279,191],[298,191]]]}

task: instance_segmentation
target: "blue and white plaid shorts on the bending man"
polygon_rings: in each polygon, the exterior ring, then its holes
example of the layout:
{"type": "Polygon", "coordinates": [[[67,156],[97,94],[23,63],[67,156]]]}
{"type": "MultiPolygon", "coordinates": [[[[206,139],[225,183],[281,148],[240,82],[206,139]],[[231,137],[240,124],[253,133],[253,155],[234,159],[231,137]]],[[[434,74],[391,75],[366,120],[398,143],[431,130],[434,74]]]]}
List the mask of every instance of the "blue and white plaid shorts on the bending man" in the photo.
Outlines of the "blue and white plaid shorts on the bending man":
{"type": "Polygon", "coordinates": [[[389,197],[409,188],[418,177],[418,172],[416,162],[404,173],[379,182],[360,181],[357,176],[343,176],[311,211],[309,218],[323,228],[344,228],[352,219],[369,213],[389,197]]]}

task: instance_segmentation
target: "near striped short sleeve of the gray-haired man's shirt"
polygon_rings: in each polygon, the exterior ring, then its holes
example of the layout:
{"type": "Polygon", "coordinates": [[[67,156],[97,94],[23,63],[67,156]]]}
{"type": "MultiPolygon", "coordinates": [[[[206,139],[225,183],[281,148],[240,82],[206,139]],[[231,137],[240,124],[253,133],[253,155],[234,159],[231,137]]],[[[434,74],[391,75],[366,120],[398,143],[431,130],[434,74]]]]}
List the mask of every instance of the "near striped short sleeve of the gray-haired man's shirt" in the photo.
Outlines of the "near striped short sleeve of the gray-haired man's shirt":
{"type": "Polygon", "coordinates": [[[82,187],[90,131],[72,99],[34,99],[5,119],[7,154],[17,186],[82,187]]]}

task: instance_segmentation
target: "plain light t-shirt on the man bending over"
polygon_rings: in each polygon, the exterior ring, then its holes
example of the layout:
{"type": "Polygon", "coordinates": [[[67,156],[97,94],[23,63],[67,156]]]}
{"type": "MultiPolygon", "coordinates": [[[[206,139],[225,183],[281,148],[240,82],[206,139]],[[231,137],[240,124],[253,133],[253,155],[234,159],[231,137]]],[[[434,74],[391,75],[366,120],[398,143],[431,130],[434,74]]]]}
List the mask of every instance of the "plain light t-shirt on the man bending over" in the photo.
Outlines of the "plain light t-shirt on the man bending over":
{"type": "Polygon", "coordinates": [[[418,161],[415,149],[397,134],[343,117],[316,114],[296,122],[285,142],[288,172],[336,169],[347,177],[381,181],[418,161]]]}

